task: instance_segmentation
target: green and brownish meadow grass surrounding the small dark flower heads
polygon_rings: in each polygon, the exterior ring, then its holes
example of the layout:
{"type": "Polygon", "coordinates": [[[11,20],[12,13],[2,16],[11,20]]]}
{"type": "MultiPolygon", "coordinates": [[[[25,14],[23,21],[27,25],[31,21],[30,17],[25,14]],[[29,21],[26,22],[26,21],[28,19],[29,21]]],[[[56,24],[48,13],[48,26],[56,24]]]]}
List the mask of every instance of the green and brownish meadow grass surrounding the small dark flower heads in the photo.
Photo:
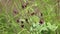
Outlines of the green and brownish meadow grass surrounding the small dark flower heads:
{"type": "MultiPolygon", "coordinates": [[[[58,25],[57,34],[60,34],[60,11],[58,0],[1,0],[0,1],[0,34],[31,34],[32,23],[41,18],[51,24],[58,25]],[[22,8],[27,1],[27,7],[22,8]],[[17,13],[15,14],[14,11],[17,13]],[[35,13],[33,16],[31,13],[35,13]],[[43,14],[41,17],[40,14],[43,14]],[[28,19],[27,23],[25,19],[28,19]],[[24,23],[17,22],[17,19],[24,23]],[[24,25],[24,28],[21,27],[24,25]]],[[[59,1],[60,2],[60,1],[59,1]]],[[[60,4],[59,4],[60,5],[60,4]]],[[[56,31],[55,31],[56,32],[56,31]]],[[[54,34],[56,34],[53,32],[54,34]]],[[[53,34],[51,32],[51,34],[53,34]]]]}

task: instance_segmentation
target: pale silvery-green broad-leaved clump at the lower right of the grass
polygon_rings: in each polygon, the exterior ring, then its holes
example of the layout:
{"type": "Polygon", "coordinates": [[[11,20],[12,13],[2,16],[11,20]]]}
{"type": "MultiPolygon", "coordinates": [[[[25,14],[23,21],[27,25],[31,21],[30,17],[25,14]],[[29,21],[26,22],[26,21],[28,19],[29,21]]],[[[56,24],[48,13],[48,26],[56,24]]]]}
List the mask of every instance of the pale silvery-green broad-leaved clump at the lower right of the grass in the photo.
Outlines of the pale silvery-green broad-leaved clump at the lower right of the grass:
{"type": "Polygon", "coordinates": [[[30,27],[30,33],[31,34],[50,34],[52,31],[54,32],[58,26],[55,24],[51,23],[33,23],[32,26],[30,27]]]}

